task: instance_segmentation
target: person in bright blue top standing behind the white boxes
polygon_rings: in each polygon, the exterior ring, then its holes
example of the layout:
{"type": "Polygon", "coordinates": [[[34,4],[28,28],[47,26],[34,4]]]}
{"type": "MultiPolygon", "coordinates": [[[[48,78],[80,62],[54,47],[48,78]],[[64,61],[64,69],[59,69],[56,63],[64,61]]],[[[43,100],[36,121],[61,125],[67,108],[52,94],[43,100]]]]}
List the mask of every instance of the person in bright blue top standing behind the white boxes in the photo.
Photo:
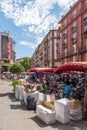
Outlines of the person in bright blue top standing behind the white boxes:
{"type": "Polygon", "coordinates": [[[66,81],[66,86],[64,88],[64,98],[70,99],[70,94],[72,92],[72,85],[69,81],[66,81]]]}

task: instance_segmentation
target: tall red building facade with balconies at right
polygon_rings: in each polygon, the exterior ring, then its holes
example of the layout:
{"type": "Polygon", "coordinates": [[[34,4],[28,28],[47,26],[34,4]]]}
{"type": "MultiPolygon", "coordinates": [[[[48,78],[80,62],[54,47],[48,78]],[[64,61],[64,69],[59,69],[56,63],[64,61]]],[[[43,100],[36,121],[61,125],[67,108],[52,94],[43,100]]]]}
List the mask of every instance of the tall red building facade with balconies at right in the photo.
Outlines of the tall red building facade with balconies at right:
{"type": "Polygon", "coordinates": [[[87,0],[78,0],[59,23],[61,63],[87,61],[87,0]]]}

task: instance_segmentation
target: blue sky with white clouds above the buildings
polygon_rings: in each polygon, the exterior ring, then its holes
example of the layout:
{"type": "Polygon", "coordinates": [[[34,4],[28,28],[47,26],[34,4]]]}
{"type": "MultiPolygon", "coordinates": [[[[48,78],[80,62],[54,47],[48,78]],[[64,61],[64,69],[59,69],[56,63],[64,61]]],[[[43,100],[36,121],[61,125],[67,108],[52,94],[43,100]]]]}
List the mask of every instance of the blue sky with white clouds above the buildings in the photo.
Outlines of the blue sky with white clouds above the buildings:
{"type": "Polygon", "coordinates": [[[16,42],[16,59],[32,56],[48,31],[77,0],[0,0],[0,32],[16,42]]]}

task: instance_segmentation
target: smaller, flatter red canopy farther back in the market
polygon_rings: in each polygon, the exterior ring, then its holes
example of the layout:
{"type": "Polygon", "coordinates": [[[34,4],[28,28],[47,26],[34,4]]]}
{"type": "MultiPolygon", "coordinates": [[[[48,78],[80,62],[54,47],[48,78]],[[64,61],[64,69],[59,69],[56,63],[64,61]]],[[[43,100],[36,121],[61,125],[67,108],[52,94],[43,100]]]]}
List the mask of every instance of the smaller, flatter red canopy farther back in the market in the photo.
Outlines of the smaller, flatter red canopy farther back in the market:
{"type": "Polygon", "coordinates": [[[51,72],[53,73],[55,68],[32,68],[30,70],[27,70],[27,72],[51,72]]]}

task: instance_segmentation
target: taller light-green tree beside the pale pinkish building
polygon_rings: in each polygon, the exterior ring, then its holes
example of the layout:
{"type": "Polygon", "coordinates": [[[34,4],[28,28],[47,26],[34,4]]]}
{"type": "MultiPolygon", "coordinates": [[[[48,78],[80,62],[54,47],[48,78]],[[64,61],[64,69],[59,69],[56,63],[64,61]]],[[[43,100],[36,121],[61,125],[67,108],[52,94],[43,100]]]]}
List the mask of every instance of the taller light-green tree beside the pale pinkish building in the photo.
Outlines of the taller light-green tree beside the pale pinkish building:
{"type": "Polygon", "coordinates": [[[30,57],[24,57],[20,64],[25,68],[25,71],[30,69],[32,67],[32,58],[30,57]]]}

